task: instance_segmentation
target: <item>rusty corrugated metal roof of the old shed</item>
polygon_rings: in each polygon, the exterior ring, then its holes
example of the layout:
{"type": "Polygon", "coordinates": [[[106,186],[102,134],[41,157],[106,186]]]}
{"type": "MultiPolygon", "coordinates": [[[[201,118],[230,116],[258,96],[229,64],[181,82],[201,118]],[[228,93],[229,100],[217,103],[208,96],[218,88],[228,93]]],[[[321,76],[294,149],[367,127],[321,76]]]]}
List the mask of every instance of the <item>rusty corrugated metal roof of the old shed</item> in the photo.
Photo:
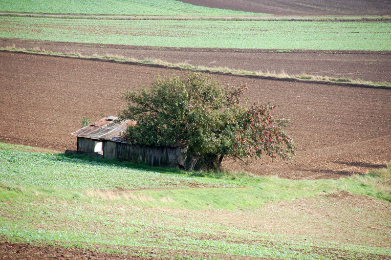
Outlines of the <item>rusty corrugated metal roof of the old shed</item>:
{"type": "Polygon", "coordinates": [[[121,142],[123,141],[123,133],[126,131],[128,126],[134,126],[136,121],[124,120],[116,122],[118,119],[116,116],[107,116],[102,118],[98,122],[84,127],[74,133],[77,137],[85,137],[97,140],[111,140],[121,142]]]}

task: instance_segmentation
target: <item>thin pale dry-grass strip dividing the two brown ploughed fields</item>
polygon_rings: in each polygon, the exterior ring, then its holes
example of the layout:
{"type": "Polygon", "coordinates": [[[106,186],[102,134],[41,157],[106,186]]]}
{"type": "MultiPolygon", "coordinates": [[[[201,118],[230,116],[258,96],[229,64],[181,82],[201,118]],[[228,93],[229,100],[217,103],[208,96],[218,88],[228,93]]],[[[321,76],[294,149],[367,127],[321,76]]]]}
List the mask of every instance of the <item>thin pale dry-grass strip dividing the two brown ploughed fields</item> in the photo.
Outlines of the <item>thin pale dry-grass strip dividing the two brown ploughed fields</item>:
{"type": "Polygon", "coordinates": [[[121,55],[93,55],[86,56],[81,55],[80,53],[57,53],[46,51],[41,48],[34,49],[24,49],[24,48],[16,48],[15,46],[8,47],[0,47],[0,50],[6,51],[14,51],[14,52],[24,52],[24,53],[35,53],[35,54],[43,54],[43,55],[54,55],[54,56],[62,56],[62,57],[73,57],[73,58],[82,58],[82,59],[94,59],[100,61],[115,61],[119,63],[131,63],[131,64],[143,64],[143,65],[157,65],[168,68],[179,68],[179,69],[187,69],[193,71],[201,71],[206,73],[222,73],[222,74],[232,74],[239,76],[256,76],[262,79],[271,79],[271,80],[286,80],[286,81],[297,81],[297,82],[306,82],[306,83],[322,83],[322,84],[334,84],[334,85],[343,85],[343,86],[352,86],[352,87],[378,87],[378,88],[391,88],[391,83],[389,82],[371,82],[371,81],[363,81],[361,79],[353,80],[351,78],[334,78],[328,76],[316,76],[316,75],[308,75],[308,74],[300,74],[300,75],[288,75],[286,73],[274,74],[270,72],[262,72],[262,71],[247,71],[247,70],[238,70],[238,69],[230,69],[230,68],[222,68],[222,67],[205,67],[205,66],[195,66],[187,63],[168,63],[162,60],[137,60],[133,58],[126,58],[121,55]]]}

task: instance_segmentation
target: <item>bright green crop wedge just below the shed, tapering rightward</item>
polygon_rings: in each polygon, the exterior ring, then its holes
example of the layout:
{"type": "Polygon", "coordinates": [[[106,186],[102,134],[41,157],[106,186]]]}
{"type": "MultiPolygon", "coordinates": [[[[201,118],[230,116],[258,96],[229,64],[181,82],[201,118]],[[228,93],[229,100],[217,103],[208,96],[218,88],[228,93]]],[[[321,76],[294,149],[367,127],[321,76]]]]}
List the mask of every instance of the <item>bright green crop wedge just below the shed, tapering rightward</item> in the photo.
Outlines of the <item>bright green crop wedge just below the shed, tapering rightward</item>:
{"type": "MultiPolygon", "coordinates": [[[[1,144],[0,149],[3,145],[1,144]]],[[[64,153],[45,154],[1,150],[0,181],[22,186],[62,189],[159,189],[239,187],[243,184],[215,178],[174,174],[176,169],[130,169],[134,164],[91,160],[64,153]],[[157,171],[160,171],[158,173],[157,171]],[[174,172],[172,172],[174,171],[174,172]]],[[[186,173],[186,172],[184,172],[186,173]]]]}

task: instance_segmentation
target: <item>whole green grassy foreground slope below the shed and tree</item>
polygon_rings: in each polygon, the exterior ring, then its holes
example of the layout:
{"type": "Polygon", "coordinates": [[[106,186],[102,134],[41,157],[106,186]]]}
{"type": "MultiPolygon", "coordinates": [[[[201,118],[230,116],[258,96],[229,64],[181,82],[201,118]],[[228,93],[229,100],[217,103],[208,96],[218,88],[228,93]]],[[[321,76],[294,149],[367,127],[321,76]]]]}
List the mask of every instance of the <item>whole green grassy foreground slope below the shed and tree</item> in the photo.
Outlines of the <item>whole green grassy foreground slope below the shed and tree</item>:
{"type": "Polygon", "coordinates": [[[340,180],[294,181],[134,168],[24,149],[31,150],[0,143],[0,236],[9,240],[128,253],[143,247],[160,255],[188,249],[195,255],[282,259],[391,257],[391,234],[380,232],[391,227],[389,202],[362,197],[361,207],[328,198],[348,191],[390,201],[384,180],[391,169],[340,180]],[[346,216],[354,219],[354,229],[346,216]],[[372,224],[376,227],[368,229],[372,224]]]}

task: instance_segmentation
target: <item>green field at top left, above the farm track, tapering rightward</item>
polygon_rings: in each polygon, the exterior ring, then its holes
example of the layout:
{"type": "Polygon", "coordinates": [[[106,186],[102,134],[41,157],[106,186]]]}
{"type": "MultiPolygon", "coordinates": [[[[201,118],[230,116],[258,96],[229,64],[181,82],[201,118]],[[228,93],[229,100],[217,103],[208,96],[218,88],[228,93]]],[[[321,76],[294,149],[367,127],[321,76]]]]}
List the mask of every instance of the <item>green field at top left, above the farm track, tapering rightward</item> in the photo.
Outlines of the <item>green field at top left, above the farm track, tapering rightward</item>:
{"type": "Polygon", "coordinates": [[[192,5],[175,0],[0,0],[0,11],[141,16],[265,15],[192,5]]]}

